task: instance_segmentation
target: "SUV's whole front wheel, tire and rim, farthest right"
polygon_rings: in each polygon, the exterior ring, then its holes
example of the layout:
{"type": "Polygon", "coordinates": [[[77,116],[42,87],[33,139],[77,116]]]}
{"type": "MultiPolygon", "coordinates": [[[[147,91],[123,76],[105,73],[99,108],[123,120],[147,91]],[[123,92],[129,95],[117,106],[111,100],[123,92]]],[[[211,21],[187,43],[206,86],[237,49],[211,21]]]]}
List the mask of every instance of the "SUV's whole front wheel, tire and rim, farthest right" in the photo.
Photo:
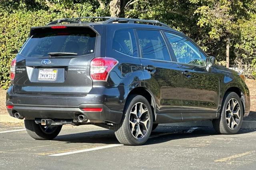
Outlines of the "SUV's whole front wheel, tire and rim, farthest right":
{"type": "Polygon", "coordinates": [[[243,121],[243,106],[240,97],[229,92],[224,96],[219,119],[214,119],[212,125],[218,134],[236,134],[243,121]]]}

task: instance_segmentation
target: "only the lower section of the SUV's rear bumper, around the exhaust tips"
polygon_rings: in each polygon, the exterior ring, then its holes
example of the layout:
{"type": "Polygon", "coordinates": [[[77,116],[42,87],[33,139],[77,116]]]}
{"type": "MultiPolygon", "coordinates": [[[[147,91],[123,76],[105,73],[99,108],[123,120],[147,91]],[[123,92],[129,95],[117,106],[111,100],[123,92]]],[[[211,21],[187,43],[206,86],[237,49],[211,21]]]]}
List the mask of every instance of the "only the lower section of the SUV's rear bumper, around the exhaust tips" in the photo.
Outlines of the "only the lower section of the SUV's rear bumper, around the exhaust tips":
{"type": "Polygon", "coordinates": [[[61,107],[61,106],[24,106],[14,105],[12,109],[7,109],[10,116],[18,112],[25,119],[77,119],[78,115],[85,115],[91,123],[120,123],[122,112],[112,111],[105,105],[80,105],[79,107],[61,107]],[[102,108],[101,112],[85,112],[82,108],[102,108]]]}

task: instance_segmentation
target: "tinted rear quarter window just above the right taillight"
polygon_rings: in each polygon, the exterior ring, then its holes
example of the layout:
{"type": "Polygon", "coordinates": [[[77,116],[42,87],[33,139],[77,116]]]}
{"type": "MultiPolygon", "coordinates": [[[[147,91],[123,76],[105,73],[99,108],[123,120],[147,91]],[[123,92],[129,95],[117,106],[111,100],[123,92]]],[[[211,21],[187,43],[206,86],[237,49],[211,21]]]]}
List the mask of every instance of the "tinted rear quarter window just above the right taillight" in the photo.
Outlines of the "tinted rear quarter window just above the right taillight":
{"type": "Polygon", "coordinates": [[[138,50],[133,30],[117,30],[114,34],[113,49],[132,57],[138,57],[138,50]]]}

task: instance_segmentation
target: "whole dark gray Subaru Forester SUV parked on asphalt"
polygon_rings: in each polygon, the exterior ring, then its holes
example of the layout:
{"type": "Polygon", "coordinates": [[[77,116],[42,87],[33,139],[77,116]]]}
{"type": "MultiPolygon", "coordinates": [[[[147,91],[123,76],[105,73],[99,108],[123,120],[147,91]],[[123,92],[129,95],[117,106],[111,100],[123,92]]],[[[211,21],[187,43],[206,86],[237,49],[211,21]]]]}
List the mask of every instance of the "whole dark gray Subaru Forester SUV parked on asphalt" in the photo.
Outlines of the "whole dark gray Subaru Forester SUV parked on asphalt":
{"type": "Polygon", "coordinates": [[[64,124],[90,124],[140,145],[159,123],[206,119],[220,134],[238,132],[250,111],[242,75],[161,22],[95,18],[104,21],[32,27],[12,61],[7,110],[25,118],[32,138],[50,140],[64,124]]]}

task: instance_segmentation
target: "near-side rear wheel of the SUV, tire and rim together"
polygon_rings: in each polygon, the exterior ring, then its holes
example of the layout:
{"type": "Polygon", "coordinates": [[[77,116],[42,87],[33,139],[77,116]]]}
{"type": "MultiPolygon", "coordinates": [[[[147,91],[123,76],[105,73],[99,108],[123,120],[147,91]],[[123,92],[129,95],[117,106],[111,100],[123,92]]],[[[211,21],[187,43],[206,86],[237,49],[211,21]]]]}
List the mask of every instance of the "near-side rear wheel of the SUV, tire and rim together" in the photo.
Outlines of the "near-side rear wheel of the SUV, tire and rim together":
{"type": "Polygon", "coordinates": [[[152,131],[153,116],[147,99],[141,95],[131,95],[126,101],[120,124],[115,124],[115,135],[125,145],[144,144],[152,131]]]}

